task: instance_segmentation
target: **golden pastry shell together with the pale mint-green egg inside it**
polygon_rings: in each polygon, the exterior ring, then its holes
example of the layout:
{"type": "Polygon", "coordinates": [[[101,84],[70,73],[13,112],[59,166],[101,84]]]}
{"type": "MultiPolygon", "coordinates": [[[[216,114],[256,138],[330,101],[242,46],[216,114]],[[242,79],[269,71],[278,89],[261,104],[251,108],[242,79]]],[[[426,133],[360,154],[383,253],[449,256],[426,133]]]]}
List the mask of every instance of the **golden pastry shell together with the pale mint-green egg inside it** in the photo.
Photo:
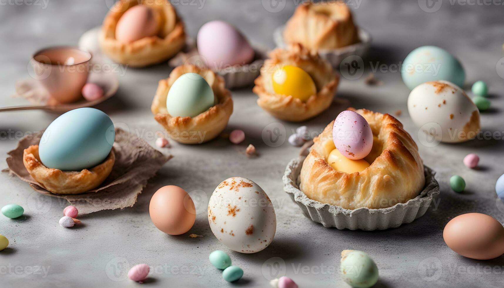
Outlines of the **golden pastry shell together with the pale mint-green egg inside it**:
{"type": "Polygon", "coordinates": [[[151,110],[171,139],[201,144],[224,130],[233,112],[233,100],[221,76],[186,64],[159,81],[151,110]]]}

